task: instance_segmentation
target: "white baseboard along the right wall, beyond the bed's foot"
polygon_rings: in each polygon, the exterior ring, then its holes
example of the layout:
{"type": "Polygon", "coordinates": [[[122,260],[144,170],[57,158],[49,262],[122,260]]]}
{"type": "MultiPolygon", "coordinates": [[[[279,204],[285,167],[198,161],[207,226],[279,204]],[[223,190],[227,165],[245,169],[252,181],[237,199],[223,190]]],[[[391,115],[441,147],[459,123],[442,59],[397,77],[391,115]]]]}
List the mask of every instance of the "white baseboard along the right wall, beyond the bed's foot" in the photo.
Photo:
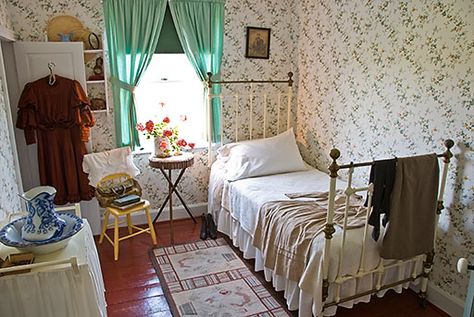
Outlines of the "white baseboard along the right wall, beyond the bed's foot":
{"type": "MultiPolygon", "coordinates": [[[[420,290],[420,284],[411,285],[411,289],[418,292],[420,290]]],[[[464,301],[448,294],[438,286],[431,282],[428,282],[428,301],[453,317],[462,317],[464,312],[464,301]]]]}

